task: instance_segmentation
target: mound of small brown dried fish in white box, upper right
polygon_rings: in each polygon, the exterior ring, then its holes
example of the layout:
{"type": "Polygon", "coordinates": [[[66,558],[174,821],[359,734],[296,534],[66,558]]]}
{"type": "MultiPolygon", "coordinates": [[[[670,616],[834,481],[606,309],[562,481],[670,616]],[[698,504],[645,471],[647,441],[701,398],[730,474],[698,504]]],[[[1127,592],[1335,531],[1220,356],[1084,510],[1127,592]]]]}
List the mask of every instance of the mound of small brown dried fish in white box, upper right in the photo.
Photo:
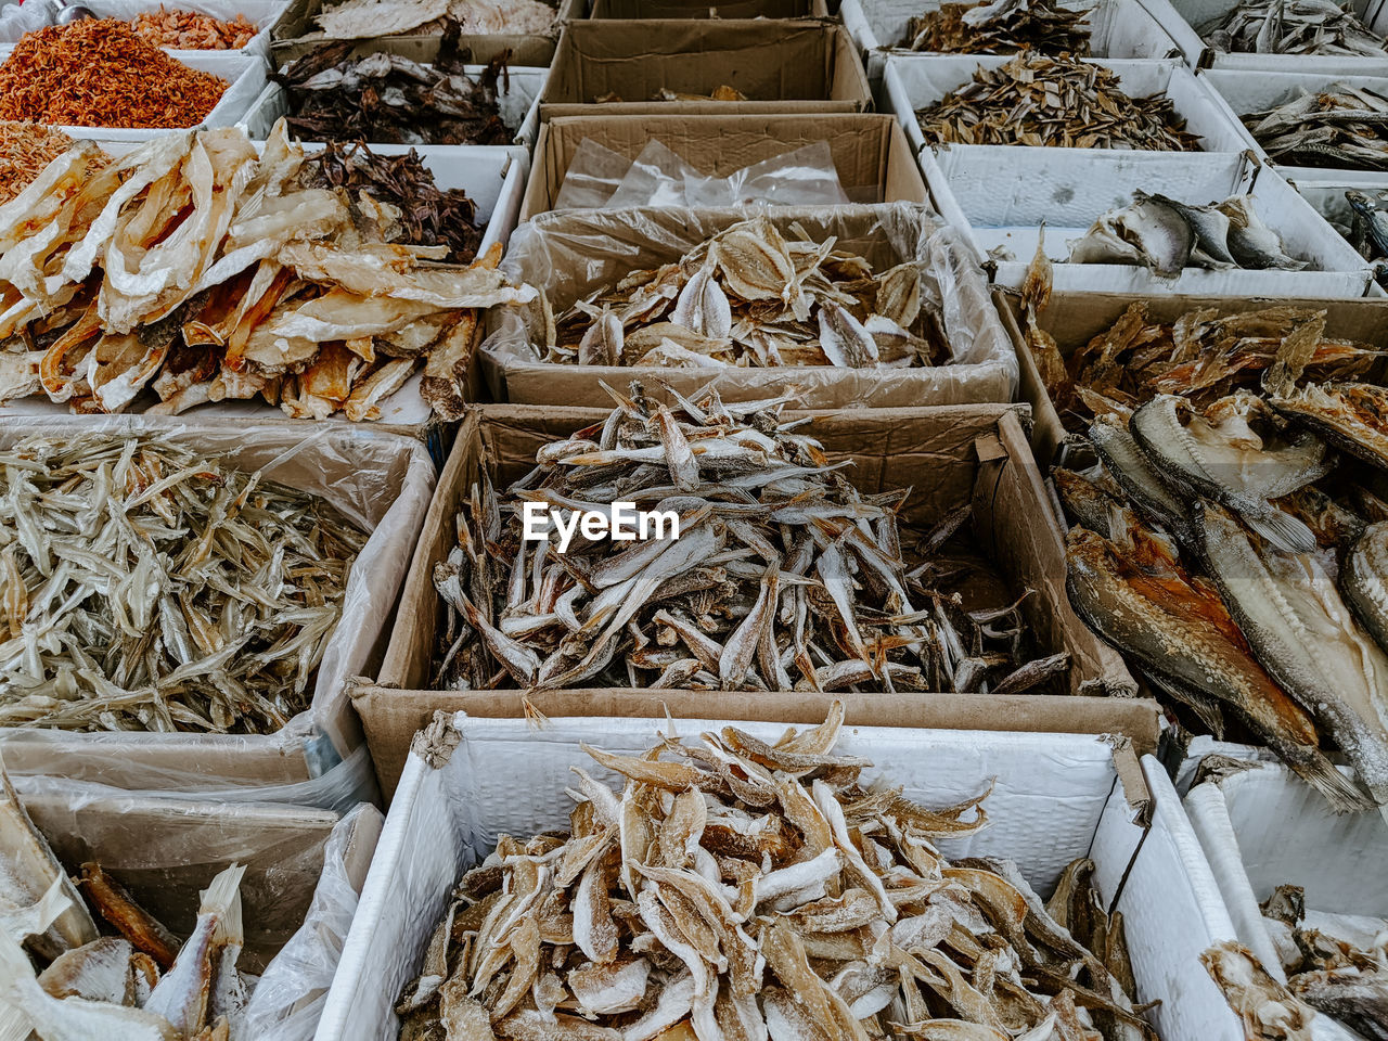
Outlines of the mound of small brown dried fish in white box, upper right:
{"type": "Polygon", "coordinates": [[[1001,68],[981,65],[973,81],[916,112],[938,144],[1031,144],[1052,149],[1195,151],[1166,94],[1128,97],[1103,65],[1070,57],[1017,54],[1001,68]]]}

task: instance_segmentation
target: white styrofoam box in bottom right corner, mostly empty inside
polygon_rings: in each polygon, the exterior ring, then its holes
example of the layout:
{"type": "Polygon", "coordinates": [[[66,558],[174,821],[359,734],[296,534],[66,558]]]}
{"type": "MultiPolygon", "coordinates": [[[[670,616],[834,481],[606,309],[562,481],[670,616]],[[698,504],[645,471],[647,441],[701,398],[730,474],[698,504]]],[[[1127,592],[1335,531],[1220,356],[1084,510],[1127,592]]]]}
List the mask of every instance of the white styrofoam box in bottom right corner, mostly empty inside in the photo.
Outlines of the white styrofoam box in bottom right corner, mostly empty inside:
{"type": "MultiPolygon", "coordinates": [[[[1278,886],[1306,890],[1307,919],[1388,917],[1388,874],[1371,867],[1388,856],[1381,815],[1331,812],[1320,793],[1281,763],[1198,784],[1185,811],[1239,942],[1276,979],[1287,976],[1259,904],[1278,886]]],[[[1326,1015],[1312,1020],[1312,1034],[1316,1041],[1357,1038],[1326,1015]]]]}

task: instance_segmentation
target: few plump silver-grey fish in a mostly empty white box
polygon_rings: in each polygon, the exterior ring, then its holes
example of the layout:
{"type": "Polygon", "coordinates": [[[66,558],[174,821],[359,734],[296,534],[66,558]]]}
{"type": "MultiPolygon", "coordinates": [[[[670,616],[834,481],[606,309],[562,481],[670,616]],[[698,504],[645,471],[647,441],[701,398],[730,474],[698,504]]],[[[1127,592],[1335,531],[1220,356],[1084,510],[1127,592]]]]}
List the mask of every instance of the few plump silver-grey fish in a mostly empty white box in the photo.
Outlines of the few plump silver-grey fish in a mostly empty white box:
{"type": "Polygon", "coordinates": [[[1133,204],[1099,215],[1083,239],[1070,240],[1070,264],[1137,264],[1159,278],[1185,268],[1301,271],[1283,240],[1253,210],[1252,196],[1190,205],[1134,192],[1133,204]]]}

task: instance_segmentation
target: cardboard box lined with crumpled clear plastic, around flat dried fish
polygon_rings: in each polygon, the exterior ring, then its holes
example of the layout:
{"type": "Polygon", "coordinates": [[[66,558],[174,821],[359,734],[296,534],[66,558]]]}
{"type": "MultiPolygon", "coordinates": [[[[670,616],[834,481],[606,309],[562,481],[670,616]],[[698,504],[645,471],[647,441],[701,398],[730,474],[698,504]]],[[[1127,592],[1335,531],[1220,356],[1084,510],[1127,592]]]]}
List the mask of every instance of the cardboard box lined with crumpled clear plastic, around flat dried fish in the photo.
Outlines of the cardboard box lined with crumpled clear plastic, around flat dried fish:
{"type": "MultiPolygon", "coordinates": [[[[922,261],[922,290],[941,303],[954,353],[949,365],[912,369],[831,366],[643,369],[541,364],[539,303],[489,315],[483,371],[497,401],[573,404],[604,401],[598,380],[625,386],[643,375],[690,393],[713,384],[726,400],[763,397],[795,386],[804,408],[955,405],[1010,401],[1019,368],[1012,340],[988,296],[967,242],[929,207],[883,203],[845,207],[740,207],[719,210],[600,210],[541,214],[511,236],[502,271],[544,290],[558,315],[575,300],[637,268],[677,261],[737,221],[766,214],[783,233],[798,223],[816,242],[836,237],[879,269],[922,261]]],[[[652,390],[652,387],[648,387],[652,390]]],[[[652,391],[659,396],[659,391],[652,391]]]]}

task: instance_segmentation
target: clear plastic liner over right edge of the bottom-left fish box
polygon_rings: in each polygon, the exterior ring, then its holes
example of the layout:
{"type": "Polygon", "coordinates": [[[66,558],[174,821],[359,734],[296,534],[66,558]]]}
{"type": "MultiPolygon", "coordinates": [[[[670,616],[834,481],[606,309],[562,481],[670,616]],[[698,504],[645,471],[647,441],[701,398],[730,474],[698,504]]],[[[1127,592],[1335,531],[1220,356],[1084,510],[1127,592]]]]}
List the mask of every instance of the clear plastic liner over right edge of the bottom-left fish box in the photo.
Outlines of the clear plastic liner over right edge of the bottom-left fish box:
{"type": "Polygon", "coordinates": [[[250,1005],[243,1035],[254,1041],[310,1041],[328,1001],[347,933],[361,897],[348,873],[348,849],[369,824],[383,823],[375,806],[358,806],[333,829],[323,849],[323,873],[298,931],[265,967],[250,1005]]]}

